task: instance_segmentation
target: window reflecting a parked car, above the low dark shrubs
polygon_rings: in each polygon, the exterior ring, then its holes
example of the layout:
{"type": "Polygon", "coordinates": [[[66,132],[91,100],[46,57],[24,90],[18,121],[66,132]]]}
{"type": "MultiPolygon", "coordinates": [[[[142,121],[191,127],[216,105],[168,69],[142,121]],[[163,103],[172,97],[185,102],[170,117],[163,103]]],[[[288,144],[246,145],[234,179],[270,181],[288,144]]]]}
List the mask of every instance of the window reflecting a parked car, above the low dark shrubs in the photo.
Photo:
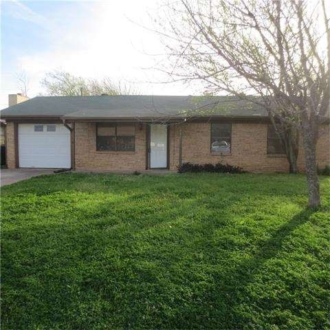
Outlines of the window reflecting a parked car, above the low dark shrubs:
{"type": "Polygon", "coordinates": [[[228,154],[232,144],[232,124],[213,122],[211,124],[211,153],[228,154]]]}

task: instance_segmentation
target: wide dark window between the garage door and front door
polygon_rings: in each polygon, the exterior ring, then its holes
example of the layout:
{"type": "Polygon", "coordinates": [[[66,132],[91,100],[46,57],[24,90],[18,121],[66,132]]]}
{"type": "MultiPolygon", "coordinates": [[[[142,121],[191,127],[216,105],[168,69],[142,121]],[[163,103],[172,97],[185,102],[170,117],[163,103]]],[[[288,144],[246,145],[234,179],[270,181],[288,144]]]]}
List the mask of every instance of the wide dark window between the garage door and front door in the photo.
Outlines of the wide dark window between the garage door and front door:
{"type": "Polygon", "coordinates": [[[134,124],[101,124],[96,126],[96,150],[134,151],[134,124]]]}

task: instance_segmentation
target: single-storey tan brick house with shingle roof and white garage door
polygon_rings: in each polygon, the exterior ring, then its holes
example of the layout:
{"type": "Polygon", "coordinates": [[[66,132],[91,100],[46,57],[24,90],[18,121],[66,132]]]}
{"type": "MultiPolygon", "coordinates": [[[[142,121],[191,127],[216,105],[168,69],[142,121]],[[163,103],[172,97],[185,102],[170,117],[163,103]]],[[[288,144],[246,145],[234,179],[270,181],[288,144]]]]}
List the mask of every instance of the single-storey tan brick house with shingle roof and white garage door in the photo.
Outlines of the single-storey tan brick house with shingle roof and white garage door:
{"type": "MultiPolygon", "coordinates": [[[[1,118],[8,168],[142,171],[224,162],[251,172],[289,170],[265,109],[230,96],[39,96],[3,109],[1,118]]],[[[321,131],[322,168],[329,122],[321,131]]],[[[300,170],[304,163],[300,148],[300,170]]]]}

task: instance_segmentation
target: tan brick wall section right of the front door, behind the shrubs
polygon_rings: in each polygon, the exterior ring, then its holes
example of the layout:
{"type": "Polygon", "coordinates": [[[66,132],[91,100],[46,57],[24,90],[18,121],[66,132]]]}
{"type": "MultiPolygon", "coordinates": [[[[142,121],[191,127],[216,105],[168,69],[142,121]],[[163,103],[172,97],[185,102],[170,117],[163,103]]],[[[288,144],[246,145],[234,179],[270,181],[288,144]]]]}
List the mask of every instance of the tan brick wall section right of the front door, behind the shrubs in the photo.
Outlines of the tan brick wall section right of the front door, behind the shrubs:
{"type": "Polygon", "coordinates": [[[210,123],[186,123],[175,126],[174,162],[179,163],[179,130],[182,130],[182,162],[197,164],[217,162],[240,166],[250,172],[287,172],[289,165],[285,155],[267,155],[267,124],[232,123],[230,155],[219,155],[210,151],[210,123]]]}

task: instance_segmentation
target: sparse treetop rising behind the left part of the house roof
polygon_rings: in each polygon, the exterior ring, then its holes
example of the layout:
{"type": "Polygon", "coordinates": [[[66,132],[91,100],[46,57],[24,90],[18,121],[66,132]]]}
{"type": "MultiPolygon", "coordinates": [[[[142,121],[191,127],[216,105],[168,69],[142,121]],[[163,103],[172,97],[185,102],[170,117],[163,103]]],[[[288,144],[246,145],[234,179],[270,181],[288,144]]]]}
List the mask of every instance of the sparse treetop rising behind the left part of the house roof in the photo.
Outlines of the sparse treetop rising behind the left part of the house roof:
{"type": "Polygon", "coordinates": [[[107,77],[102,80],[87,79],[79,76],[55,70],[48,72],[41,80],[41,85],[45,87],[45,94],[50,96],[96,96],[96,95],[129,95],[136,94],[127,85],[113,83],[107,77]]]}

